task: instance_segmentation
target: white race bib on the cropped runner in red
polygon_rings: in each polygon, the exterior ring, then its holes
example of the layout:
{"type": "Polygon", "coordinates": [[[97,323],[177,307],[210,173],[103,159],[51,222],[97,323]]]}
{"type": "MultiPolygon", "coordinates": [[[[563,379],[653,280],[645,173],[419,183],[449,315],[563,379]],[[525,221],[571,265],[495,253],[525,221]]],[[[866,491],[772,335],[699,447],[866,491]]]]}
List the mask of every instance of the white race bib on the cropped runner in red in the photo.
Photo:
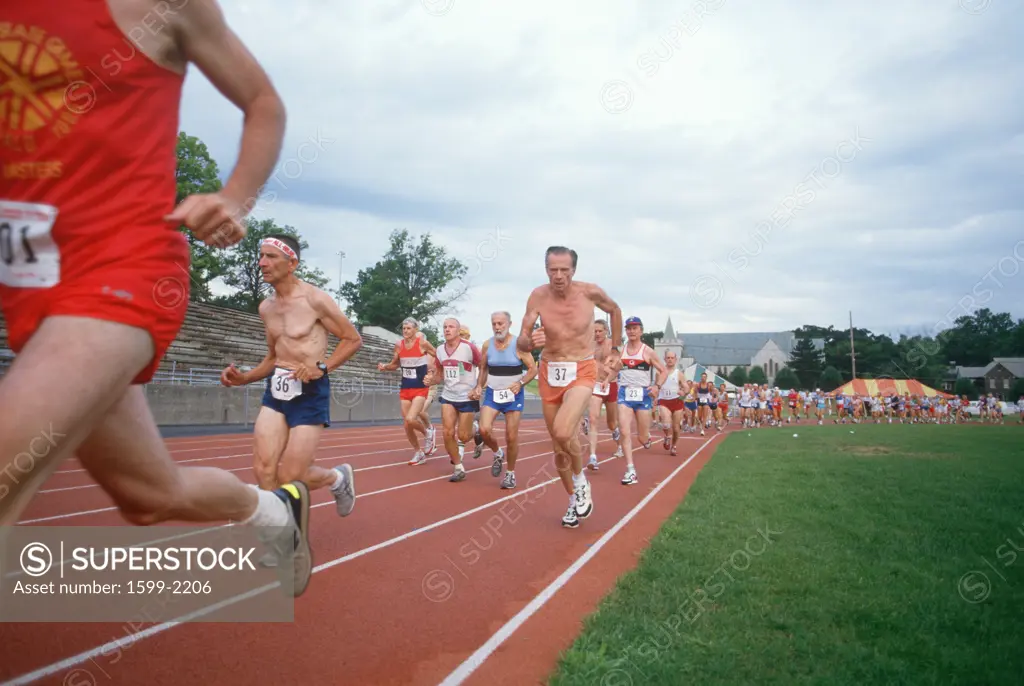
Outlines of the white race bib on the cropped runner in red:
{"type": "Polygon", "coordinates": [[[60,281],[60,251],[51,231],[57,209],[0,200],[0,284],[51,288],[60,281]]]}

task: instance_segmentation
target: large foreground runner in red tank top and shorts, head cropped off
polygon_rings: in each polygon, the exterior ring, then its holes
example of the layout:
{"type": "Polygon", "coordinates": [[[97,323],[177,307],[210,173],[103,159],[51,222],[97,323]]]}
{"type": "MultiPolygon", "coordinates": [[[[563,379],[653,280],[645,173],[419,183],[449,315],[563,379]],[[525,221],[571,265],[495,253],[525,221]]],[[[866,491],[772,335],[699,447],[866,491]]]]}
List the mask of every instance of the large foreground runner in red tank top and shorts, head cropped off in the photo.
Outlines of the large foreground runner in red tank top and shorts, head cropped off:
{"type": "Polygon", "coordinates": [[[296,554],[295,575],[282,583],[301,594],[305,484],[264,491],[229,472],[178,467],[138,385],[187,307],[188,247],[177,227],[210,246],[244,235],[241,219],[281,152],[273,86],[213,0],[4,2],[0,41],[0,307],[18,353],[0,382],[0,525],[13,525],[74,452],[132,523],[283,527],[267,544],[296,554]],[[175,208],[189,61],[246,123],[223,190],[175,208]],[[40,436],[48,447],[27,465],[40,436]]]}

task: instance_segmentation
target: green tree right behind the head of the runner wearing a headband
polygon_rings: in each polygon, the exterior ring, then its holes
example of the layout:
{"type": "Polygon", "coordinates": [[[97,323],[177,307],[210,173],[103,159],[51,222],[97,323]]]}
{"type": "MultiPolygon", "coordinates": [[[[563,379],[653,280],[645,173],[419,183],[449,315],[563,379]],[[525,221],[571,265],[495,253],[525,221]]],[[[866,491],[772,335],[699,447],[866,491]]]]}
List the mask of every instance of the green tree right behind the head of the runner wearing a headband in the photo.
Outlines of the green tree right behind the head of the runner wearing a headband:
{"type": "Polygon", "coordinates": [[[234,293],[214,299],[214,304],[256,313],[259,304],[269,295],[271,287],[263,281],[259,268],[260,242],[270,233],[292,235],[301,249],[299,267],[295,275],[317,288],[326,288],[329,280],[319,269],[310,269],[302,261],[309,244],[291,226],[279,226],[273,219],[246,219],[246,237],[226,251],[224,255],[224,283],[234,289],[234,293]]]}

